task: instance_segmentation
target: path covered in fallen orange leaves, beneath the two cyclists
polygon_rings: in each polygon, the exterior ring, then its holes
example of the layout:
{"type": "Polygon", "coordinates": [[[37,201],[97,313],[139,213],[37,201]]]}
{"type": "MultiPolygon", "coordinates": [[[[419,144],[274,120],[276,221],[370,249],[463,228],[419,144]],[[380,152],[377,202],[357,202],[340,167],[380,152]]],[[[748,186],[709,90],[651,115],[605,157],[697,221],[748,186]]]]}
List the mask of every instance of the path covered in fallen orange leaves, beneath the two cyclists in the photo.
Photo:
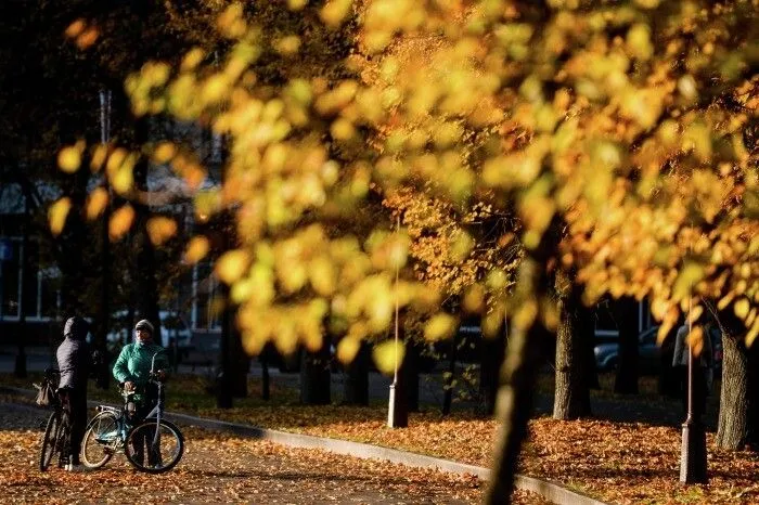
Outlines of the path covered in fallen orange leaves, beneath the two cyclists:
{"type": "MultiPolygon", "coordinates": [[[[0,404],[2,503],[468,504],[475,477],[358,459],[320,450],[183,427],[185,454],[170,472],[133,470],[123,455],[105,468],[70,474],[37,469],[46,411],[0,404]]],[[[542,503],[520,493],[516,503],[542,503]]]]}

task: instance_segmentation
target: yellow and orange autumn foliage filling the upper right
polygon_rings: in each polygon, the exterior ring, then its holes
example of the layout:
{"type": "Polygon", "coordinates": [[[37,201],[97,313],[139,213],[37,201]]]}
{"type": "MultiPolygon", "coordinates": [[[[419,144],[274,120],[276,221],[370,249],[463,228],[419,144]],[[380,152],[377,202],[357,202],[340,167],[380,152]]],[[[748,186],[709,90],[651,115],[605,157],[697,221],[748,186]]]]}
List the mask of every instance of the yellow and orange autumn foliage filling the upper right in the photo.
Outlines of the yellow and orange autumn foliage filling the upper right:
{"type": "MultiPolygon", "coordinates": [[[[136,114],[196,121],[229,144],[213,187],[180,150],[151,155],[185,179],[198,220],[234,216],[239,243],[216,273],[248,352],[270,340],[317,349],[327,321],[382,336],[396,306],[428,311],[446,294],[487,313],[493,333],[505,310],[517,327],[552,327],[540,272],[557,267],[578,272],[589,303],[648,297],[661,335],[691,301],[697,313],[719,300],[750,344],[758,11],[757,0],[235,3],[218,41],[143,65],[126,89],[136,114]],[[402,228],[378,216],[372,233],[340,225],[377,198],[402,228]],[[474,236],[485,217],[506,224],[474,236]]],[[[128,196],[133,160],[116,153],[106,174],[128,196]]],[[[185,258],[203,249],[193,242],[185,258]]],[[[433,318],[425,333],[448,324],[433,318]]]]}

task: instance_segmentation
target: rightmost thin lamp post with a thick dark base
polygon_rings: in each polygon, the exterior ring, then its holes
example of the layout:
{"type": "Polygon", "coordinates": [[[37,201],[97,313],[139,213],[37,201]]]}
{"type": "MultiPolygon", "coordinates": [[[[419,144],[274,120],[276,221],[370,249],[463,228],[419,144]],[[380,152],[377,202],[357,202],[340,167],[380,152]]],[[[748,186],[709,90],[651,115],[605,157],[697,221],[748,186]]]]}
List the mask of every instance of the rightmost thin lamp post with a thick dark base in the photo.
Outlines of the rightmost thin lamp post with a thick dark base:
{"type": "MultiPolygon", "coordinates": [[[[693,409],[693,379],[696,373],[693,362],[693,344],[691,342],[691,332],[693,321],[691,320],[691,305],[689,301],[687,314],[687,417],[682,428],[682,446],[680,450],[680,482],[683,484],[706,483],[709,479],[706,472],[706,431],[702,423],[702,409],[697,412],[693,409]]],[[[703,374],[703,371],[698,372],[703,374]]],[[[702,377],[699,377],[702,380],[702,377]]],[[[698,388],[698,396],[704,394],[703,388],[698,388]]],[[[704,399],[698,398],[702,402],[704,399]]]]}

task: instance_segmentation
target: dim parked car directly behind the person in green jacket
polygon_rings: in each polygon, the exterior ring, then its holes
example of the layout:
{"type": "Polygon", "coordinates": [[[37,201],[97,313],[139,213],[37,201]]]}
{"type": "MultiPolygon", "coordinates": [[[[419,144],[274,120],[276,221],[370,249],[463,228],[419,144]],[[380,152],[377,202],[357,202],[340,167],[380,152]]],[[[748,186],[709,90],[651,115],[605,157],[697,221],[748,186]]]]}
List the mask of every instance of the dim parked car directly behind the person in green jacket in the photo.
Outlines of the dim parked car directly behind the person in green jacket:
{"type": "MultiPolygon", "coordinates": [[[[155,342],[169,349],[176,342],[181,354],[186,354],[192,348],[192,333],[190,325],[184,319],[168,310],[158,311],[160,318],[160,337],[155,338],[155,342]]],[[[139,313],[134,313],[131,324],[128,321],[129,313],[126,310],[114,312],[111,316],[111,331],[106,335],[106,344],[111,352],[118,352],[121,347],[132,340],[134,324],[143,319],[139,313]]]]}

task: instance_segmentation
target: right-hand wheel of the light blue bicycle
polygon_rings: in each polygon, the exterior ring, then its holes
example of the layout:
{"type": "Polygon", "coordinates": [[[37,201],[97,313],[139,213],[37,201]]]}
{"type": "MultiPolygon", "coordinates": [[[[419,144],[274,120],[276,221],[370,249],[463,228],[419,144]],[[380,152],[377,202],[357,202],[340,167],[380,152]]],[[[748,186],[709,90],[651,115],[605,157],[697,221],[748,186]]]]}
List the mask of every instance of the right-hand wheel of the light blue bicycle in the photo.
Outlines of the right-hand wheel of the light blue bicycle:
{"type": "Polygon", "coordinates": [[[155,420],[134,426],[127,436],[124,453],[134,468],[149,474],[163,474],[173,468],[184,452],[182,432],[168,420],[156,431],[155,420]]]}

